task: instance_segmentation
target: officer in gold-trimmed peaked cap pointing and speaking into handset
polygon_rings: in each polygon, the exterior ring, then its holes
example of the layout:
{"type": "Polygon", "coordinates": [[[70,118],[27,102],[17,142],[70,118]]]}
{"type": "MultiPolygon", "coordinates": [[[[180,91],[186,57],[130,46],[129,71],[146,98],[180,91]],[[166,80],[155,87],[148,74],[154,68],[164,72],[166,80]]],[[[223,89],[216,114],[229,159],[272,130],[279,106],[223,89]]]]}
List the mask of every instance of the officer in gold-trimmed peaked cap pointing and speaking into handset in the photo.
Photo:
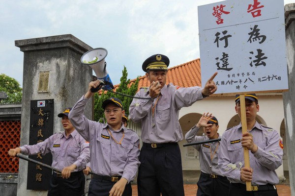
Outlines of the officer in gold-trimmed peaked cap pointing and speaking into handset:
{"type": "Polygon", "coordinates": [[[204,88],[180,88],[166,84],[170,60],[163,54],[148,57],[142,69],[150,86],[140,89],[129,107],[133,122],[142,123],[140,167],[137,178],[139,196],[184,196],[181,154],[183,139],[178,111],[213,94],[217,87],[214,73],[204,88]],[[155,155],[155,156],[154,156],[155,155]]]}

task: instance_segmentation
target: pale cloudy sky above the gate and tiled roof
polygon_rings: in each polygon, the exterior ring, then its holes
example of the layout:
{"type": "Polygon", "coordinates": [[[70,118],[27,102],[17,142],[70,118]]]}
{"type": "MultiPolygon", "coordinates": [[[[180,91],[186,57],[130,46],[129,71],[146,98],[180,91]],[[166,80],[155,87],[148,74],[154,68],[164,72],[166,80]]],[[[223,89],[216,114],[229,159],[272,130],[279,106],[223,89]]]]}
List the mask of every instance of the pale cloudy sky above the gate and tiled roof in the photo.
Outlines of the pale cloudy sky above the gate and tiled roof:
{"type": "MultiPolygon", "coordinates": [[[[119,83],[144,75],[143,61],[161,53],[170,66],[200,58],[198,6],[220,0],[0,0],[0,73],[23,85],[23,52],[15,40],[72,34],[105,48],[107,71],[119,83]]],[[[284,0],[284,4],[295,0],[284,0]]]]}

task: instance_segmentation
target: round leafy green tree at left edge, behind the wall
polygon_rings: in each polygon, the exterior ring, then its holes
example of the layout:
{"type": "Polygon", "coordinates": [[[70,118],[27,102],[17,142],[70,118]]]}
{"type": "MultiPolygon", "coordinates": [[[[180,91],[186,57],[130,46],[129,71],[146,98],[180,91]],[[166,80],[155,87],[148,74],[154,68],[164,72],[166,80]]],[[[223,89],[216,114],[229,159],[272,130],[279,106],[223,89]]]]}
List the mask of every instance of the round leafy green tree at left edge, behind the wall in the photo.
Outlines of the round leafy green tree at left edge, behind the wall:
{"type": "Polygon", "coordinates": [[[0,74],[0,91],[3,91],[7,94],[8,98],[2,99],[1,103],[17,103],[22,102],[22,88],[20,83],[4,73],[0,74]]]}

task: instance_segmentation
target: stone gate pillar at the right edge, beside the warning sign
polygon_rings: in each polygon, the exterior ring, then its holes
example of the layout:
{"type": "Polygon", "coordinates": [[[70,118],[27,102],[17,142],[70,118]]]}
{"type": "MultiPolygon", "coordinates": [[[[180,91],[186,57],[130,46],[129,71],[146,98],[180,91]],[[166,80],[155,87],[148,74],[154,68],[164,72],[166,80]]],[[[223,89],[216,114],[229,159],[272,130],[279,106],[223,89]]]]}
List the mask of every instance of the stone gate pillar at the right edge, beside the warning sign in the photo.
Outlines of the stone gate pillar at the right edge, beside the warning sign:
{"type": "Polygon", "coordinates": [[[283,93],[291,195],[295,196],[295,3],[285,5],[289,91],[283,93]]]}

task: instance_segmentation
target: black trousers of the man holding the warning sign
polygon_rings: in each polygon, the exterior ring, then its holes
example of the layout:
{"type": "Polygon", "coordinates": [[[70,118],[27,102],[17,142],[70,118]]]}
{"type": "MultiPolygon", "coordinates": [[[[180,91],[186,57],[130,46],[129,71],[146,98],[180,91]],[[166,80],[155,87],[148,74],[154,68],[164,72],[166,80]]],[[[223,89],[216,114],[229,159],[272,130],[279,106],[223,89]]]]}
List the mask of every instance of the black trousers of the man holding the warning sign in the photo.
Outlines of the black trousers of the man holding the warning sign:
{"type": "Polygon", "coordinates": [[[246,185],[231,183],[229,196],[278,196],[277,190],[273,188],[273,185],[264,185],[263,188],[266,190],[246,191],[246,185]]]}

